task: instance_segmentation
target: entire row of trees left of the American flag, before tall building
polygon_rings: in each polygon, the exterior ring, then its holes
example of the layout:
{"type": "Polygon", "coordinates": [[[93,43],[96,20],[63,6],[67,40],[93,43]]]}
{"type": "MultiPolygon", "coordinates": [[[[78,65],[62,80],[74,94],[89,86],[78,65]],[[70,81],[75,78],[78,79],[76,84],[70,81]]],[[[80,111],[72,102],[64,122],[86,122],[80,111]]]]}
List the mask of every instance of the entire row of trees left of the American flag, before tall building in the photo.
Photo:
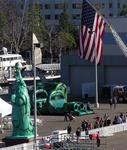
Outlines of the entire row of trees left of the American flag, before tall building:
{"type": "Polygon", "coordinates": [[[57,29],[45,24],[40,5],[30,5],[25,13],[23,12],[24,1],[19,2],[18,5],[17,11],[14,3],[8,3],[8,0],[0,1],[1,46],[5,45],[9,49],[13,47],[17,53],[21,50],[31,49],[32,33],[34,32],[50,55],[53,55],[53,51],[60,54],[62,51],[69,52],[76,48],[78,34],[76,27],[70,22],[67,3],[64,4],[57,29]]]}

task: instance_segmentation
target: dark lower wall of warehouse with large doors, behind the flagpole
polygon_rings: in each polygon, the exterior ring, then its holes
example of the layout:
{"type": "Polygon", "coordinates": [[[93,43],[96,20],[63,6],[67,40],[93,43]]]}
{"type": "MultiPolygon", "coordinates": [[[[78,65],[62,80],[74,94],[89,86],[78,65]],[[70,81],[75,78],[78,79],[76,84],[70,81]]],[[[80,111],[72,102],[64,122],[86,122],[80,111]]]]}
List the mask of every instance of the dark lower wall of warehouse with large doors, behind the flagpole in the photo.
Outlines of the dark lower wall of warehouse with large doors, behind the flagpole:
{"type": "MultiPolygon", "coordinates": [[[[82,84],[95,82],[95,65],[77,55],[63,56],[62,82],[70,87],[71,95],[82,97],[82,84]]],[[[104,85],[127,85],[127,58],[121,55],[103,56],[98,66],[99,95],[104,85]]]]}

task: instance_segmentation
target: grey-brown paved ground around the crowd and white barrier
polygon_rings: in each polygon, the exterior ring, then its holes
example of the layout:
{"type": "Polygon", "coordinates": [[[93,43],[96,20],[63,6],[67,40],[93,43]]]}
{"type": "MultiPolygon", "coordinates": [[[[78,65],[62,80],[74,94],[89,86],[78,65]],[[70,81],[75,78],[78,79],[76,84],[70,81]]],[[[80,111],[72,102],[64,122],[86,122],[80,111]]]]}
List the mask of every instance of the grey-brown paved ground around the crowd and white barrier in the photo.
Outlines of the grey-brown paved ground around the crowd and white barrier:
{"type": "MultiPolygon", "coordinates": [[[[127,104],[117,104],[117,108],[112,110],[109,108],[108,104],[101,104],[99,109],[94,108],[95,114],[76,117],[75,121],[64,122],[63,116],[38,116],[42,120],[42,124],[38,126],[38,134],[40,136],[50,135],[53,130],[65,129],[70,123],[72,126],[72,131],[75,132],[76,128],[81,125],[83,119],[88,119],[89,121],[94,121],[94,117],[98,114],[102,116],[108,113],[111,120],[113,120],[115,115],[120,112],[127,112],[127,104]]],[[[11,131],[5,130],[4,134],[0,134],[0,139],[9,135],[11,131]]],[[[112,137],[108,137],[103,140],[103,143],[107,144],[102,150],[127,150],[127,132],[115,134],[112,137]]],[[[101,148],[100,148],[101,149],[101,148]]]]}

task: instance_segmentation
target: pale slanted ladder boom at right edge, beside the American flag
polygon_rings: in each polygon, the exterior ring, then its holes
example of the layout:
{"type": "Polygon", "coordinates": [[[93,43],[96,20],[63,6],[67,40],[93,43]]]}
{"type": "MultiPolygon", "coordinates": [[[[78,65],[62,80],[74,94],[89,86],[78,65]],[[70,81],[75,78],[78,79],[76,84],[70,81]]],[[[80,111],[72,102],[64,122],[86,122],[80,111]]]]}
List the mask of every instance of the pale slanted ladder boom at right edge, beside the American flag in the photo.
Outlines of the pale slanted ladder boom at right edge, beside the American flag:
{"type": "Polygon", "coordinates": [[[127,57],[127,46],[124,44],[118,33],[111,26],[110,29],[119,48],[122,50],[123,54],[127,57]]]}

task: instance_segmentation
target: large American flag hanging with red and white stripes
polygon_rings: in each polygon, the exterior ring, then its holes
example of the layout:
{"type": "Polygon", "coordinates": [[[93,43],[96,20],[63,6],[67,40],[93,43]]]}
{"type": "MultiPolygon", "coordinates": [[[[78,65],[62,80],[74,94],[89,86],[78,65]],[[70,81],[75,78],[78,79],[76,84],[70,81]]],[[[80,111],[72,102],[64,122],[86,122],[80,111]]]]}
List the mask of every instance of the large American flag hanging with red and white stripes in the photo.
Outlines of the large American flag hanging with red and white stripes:
{"type": "Polygon", "coordinates": [[[80,57],[100,63],[103,49],[103,36],[106,22],[91,6],[83,0],[82,18],[80,27],[80,57]],[[95,57],[96,56],[96,57],[95,57]]]}

